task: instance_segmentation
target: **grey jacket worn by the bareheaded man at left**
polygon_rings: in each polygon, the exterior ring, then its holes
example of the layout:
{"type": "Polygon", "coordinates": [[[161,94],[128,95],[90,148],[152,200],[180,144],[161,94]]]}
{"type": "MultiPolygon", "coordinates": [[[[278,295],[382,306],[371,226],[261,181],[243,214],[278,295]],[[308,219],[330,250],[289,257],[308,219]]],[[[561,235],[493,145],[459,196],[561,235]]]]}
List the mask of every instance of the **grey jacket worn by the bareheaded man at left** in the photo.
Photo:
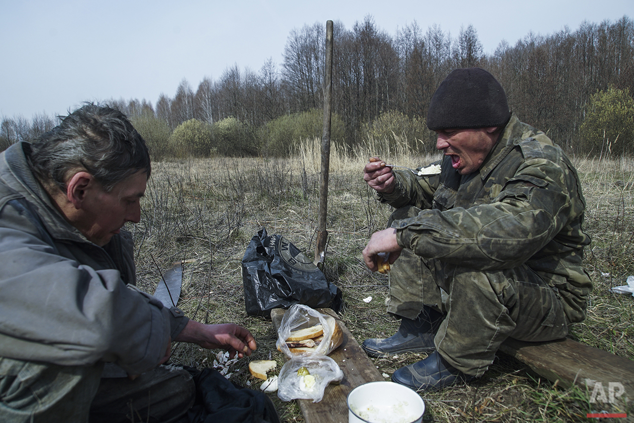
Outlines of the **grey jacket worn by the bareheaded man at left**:
{"type": "Polygon", "coordinates": [[[134,286],[128,232],[100,248],[65,220],[29,151],[22,142],[0,153],[0,357],[152,369],[188,319],[134,286]]]}

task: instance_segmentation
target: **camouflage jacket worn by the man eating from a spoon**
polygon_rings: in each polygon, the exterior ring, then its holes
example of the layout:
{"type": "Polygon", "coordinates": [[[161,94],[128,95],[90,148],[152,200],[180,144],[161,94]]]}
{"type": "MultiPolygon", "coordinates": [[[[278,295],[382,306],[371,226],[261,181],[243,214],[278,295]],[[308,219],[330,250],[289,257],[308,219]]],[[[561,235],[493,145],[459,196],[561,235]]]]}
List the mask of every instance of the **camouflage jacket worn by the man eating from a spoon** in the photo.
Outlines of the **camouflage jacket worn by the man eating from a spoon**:
{"type": "Polygon", "coordinates": [[[500,270],[526,264],[556,287],[571,322],[585,318],[592,282],[582,264],[585,199],[570,160],[541,131],[512,116],[482,166],[460,175],[445,156],[441,174],[394,171],[384,203],[424,209],[397,220],[397,240],[452,266],[500,270]]]}

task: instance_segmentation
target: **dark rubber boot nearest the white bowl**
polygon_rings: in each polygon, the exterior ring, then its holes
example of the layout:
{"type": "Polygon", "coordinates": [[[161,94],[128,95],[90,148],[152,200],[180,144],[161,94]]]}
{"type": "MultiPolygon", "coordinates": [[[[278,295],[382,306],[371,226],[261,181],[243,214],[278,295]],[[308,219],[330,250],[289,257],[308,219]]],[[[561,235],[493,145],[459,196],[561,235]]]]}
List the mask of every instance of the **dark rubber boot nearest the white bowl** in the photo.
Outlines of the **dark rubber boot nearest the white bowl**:
{"type": "Polygon", "coordinates": [[[458,382],[469,382],[475,379],[455,369],[434,351],[424,360],[396,370],[392,374],[392,382],[409,386],[416,391],[436,391],[458,382]]]}

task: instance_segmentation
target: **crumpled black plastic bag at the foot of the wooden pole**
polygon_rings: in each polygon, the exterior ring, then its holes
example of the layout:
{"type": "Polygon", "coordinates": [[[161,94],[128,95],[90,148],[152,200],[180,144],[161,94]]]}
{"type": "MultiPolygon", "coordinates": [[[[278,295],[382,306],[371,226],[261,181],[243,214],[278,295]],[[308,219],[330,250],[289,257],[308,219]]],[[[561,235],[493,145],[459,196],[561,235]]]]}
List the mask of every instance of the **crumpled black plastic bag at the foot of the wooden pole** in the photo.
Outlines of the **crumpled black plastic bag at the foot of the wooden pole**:
{"type": "Polygon", "coordinates": [[[242,259],[247,314],[270,317],[273,308],[303,304],[339,312],[341,290],[328,282],[313,261],[285,237],[262,228],[242,259]]]}

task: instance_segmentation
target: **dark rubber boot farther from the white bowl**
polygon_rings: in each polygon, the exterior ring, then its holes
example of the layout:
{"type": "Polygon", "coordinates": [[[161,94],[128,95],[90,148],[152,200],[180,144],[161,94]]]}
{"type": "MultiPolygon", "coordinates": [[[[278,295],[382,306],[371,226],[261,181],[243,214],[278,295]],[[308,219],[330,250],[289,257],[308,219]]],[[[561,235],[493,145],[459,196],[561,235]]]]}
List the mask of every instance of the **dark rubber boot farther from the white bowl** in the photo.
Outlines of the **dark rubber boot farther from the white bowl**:
{"type": "Polygon", "coordinates": [[[403,317],[396,334],[387,339],[366,339],[361,348],[370,357],[389,357],[405,352],[429,353],[436,350],[434,336],[443,317],[443,313],[425,305],[416,320],[403,317]]]}

